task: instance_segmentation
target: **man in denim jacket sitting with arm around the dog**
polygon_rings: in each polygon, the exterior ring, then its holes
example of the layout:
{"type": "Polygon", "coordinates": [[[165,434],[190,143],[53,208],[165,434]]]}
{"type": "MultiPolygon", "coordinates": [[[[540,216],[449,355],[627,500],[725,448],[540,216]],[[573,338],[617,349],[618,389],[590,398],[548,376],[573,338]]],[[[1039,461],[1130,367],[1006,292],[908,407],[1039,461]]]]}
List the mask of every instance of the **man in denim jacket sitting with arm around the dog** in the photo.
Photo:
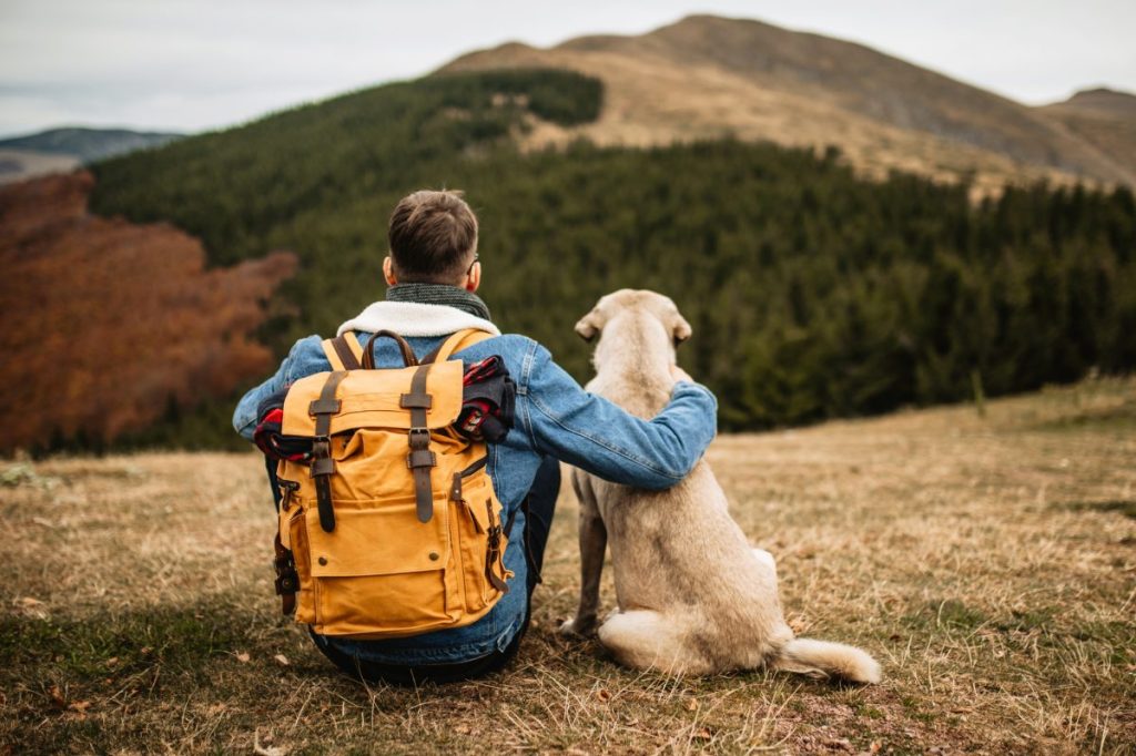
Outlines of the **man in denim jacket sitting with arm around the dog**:
{"type": "MultiPolygon", "coordinates": [[[[350,640],[312,633],[319,649],[340,669],[367,680],[409,684],[467,679],[504,666],[516,654],[529,622],[533,588],[544,556],[560,487],[558,460],[613,482],[667,488],[686,477],[716,432],[717,402],[690,376],[674,369],[670,403],[648,421],[586,393],[531,338],[501,335],[475,294],[482,280],[477,219],[458,192],[421,191],[394,209],[390,254],[383,261],[386,301],[376,302],[340,326],[360,343],[387,329],[407,338],[421,358],[445,336],[463,328],[494,335],[457,356],[467,364],[500,355],[517,385],[516,423],[503,442],[488,445],[487,471],[506,512],[515,516],[504,563],[510,590],[477,622],[393,640],[350,640]],[[529,499],[528,516],[520,511],[529,499]],[[526,554],[527,549],[527,554],[526,554]],[[529,568],[532,565],[533,569],[529,568]]],[[[292,347],[276,375],[249,392],[233,425],[252,439],[257,406],[286,385],[331,370],[318,336],[292,347]]],[[[401,367],[398,346],[377,339],[375,364],[401,367]]]]}

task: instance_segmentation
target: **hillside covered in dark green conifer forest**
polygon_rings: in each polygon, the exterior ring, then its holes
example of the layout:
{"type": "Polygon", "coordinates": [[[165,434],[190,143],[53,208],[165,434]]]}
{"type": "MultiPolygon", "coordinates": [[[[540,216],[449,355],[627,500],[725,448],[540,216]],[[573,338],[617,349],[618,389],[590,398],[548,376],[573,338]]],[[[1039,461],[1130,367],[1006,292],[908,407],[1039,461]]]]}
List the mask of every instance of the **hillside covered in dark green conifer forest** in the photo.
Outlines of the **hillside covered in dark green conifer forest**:
{"type": "MultiPolygon", "coordinates": [[[[680,360],[733,429],[958,400],[974,378],[1001,394],[1136,364],[1128,190],[1010,188],[975,205],[964,185],[862,180],[836,151],[515,146],[602,103],[596,79],[566,72],[392,84],[99,163],[92,209],[172,221],[215,264],[293,251],[300,272],[261,330],[283,356],[383,296],[400,196],[462,188],[504,329],[585,378],[575,320],[615,288],[669,294],[694,327],[680,360]]],[[[223,423],[179,435],[184,421],[173,412],[147,438],[231,439],[223,423]]]]}

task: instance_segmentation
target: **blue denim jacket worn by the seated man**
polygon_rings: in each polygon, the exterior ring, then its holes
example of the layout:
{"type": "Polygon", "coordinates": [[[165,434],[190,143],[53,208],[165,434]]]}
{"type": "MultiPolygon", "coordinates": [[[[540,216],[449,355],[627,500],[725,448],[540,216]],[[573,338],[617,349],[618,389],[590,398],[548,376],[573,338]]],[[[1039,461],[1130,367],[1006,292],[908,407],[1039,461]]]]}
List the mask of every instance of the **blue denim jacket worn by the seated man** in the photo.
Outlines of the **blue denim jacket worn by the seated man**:
{"type": "MultiPolygon", "coordinates": [[[[358,336],[366,344],[369,334],[358,336]]],[[[233,425],[244,438],[252,439],[261,400],[304,376],[331,370],[320,341],[309,336],[296,342],[276,375],[244,395],[233,414],[233,425]]],[[[442,338],[407,341],[423,356],[442,338]]],[[[457,356],[468,363],[491,354],[503,358],[517,383],[516,426],[503,443],[488,446],[487,462],[494,489],[508,510],[504,516],[516,513],[513,532],[523,532],[525,515],[520,504],[545,455],[607,480],[659,489],[685,478],[715,437],[718,403],[709,389],[698,384],[677,384],[662,412],[643,420],[585,392],[552,361],[546,348],[525,336],[488,338],[457,356]]],[[[401,367],[398,347],[391,341],[375,344],[375,364],[401,367]]],[[[329,636],[320,640],[360,658],[406,665],[465,662],[504,649],[527,612],[528,565],[523,549],[523,538],[510,540],[504,563],[513,572],[509,581],[512,590],[474,624],[393,640],[329,636]]]]}

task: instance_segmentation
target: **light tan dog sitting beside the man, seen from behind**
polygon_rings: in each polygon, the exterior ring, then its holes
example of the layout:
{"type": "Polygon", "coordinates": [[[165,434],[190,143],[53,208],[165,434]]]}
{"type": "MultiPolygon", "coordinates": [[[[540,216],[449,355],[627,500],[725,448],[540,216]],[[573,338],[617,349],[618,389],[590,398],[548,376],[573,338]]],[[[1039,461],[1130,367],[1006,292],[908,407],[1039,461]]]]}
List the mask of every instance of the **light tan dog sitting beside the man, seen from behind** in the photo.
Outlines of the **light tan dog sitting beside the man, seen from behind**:
{"type": "MultiPolygon", "coordinates": [[[[576,324],[592,341],[587,389],[642,418],[669,401],[675,346],[691,326],[661,294],[621,289],[576,324]]],[[[623,664],[671,674],[768,666],[878,682],[879,664],[842,644],[794,638],[777,598],[772,556],[752,548],[701,461],[674,488],[648,492],[573,470],[579,498],[580,597],[563,635],[596,629],[604,547],[611,546],[619,610],[599,628],[623,664]]]]}

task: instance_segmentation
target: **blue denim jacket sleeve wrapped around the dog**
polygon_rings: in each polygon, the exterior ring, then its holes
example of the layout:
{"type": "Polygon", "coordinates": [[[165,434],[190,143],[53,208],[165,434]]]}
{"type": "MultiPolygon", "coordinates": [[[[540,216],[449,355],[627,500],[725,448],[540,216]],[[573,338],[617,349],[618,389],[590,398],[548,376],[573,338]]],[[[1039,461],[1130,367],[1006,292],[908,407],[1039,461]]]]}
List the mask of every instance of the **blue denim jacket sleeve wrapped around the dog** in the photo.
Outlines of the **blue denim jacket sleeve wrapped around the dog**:
{"type": "Polygon", "coordinates": [[[676,384],[667,406],[643,420],[584,390],[538,344],[525,362],[518,415],[536,450],[604,480],[669,488],[717,432],[718,402],[699,384],[676,384]]]}

